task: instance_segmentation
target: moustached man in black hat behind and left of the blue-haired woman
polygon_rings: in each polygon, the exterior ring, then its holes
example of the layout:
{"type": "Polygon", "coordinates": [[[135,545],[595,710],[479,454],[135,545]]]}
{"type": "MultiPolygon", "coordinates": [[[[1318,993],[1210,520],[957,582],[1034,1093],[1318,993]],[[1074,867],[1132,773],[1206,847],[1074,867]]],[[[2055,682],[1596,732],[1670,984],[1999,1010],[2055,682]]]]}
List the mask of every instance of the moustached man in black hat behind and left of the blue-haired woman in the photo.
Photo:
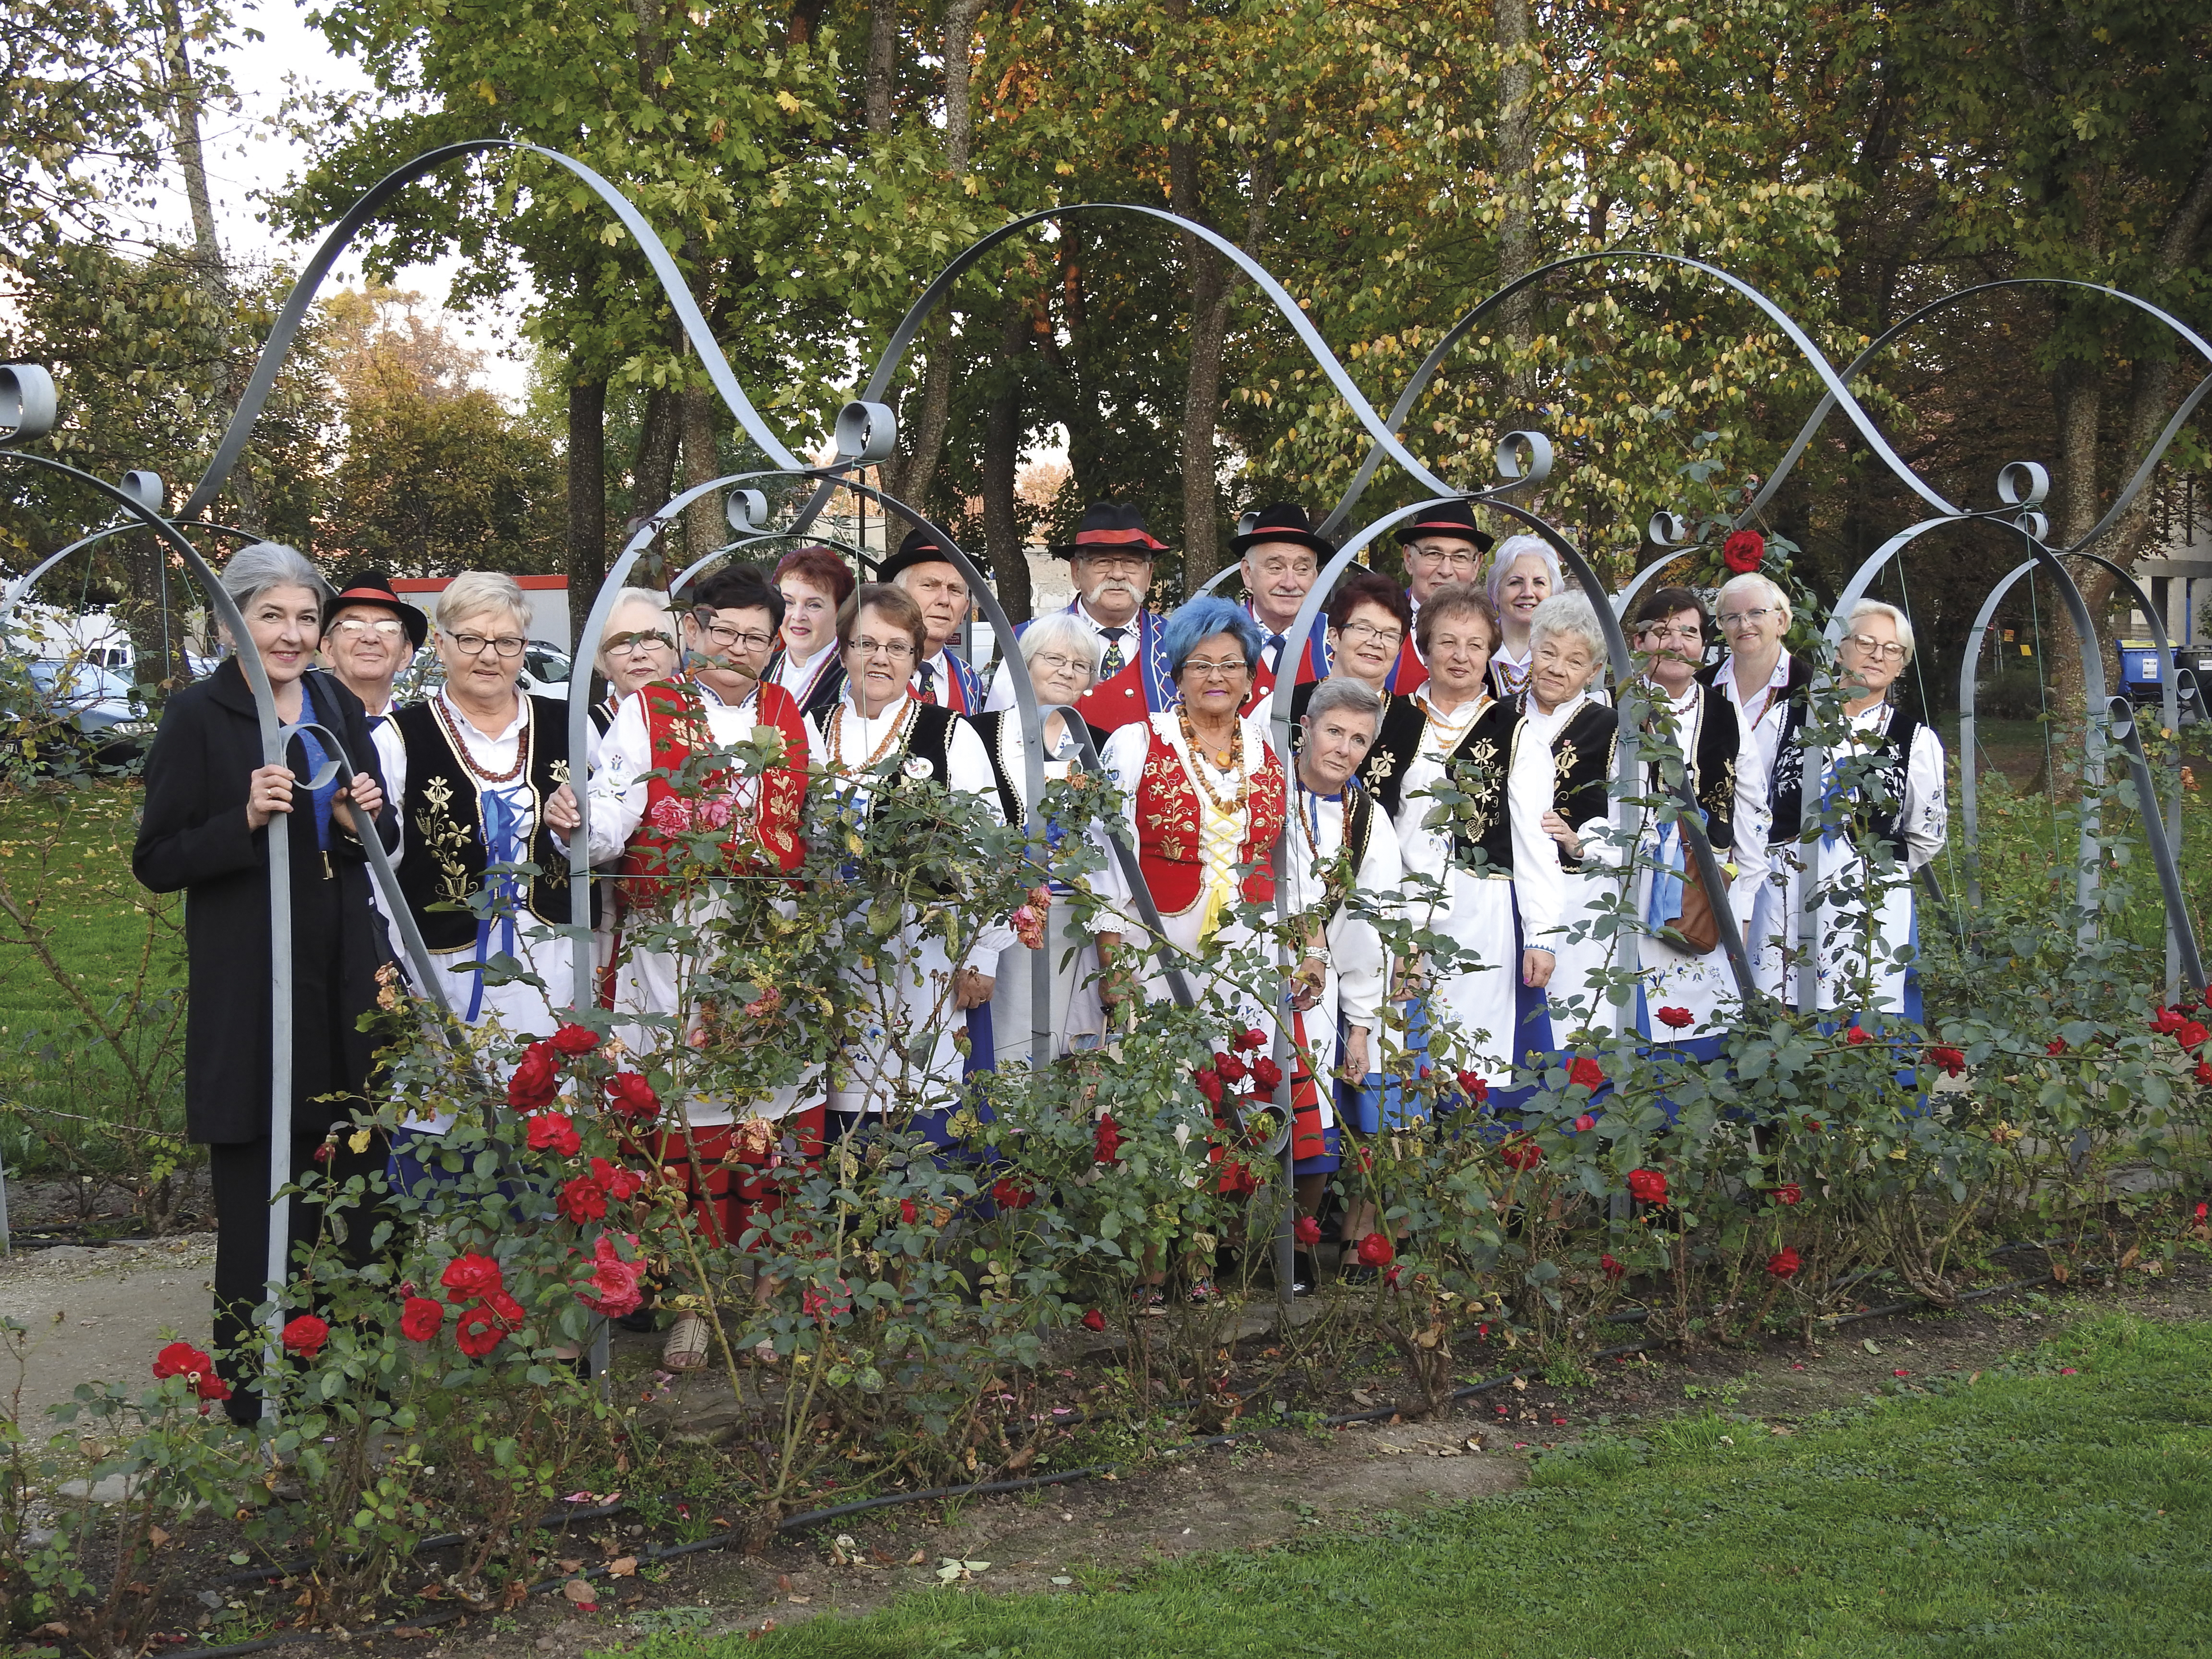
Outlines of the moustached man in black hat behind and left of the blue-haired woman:
{"type": "MultiPolygon", "coordinates": [[[[1164,549],[1166,542],[1144,526],[1144,513],[1121,502],[1086,507],[1075,540],[1053,549],[1075,582],[1066,615],[1099,637],[1097,679],[1075,703],[1099,745],[1124,726],[1175,708],[1166,619],[1144,604],[1152,591],[1152,557],[1164,549]]],[[[1013,675],[1000,668],[989,708],[1013,706],[1013,675]]]]}

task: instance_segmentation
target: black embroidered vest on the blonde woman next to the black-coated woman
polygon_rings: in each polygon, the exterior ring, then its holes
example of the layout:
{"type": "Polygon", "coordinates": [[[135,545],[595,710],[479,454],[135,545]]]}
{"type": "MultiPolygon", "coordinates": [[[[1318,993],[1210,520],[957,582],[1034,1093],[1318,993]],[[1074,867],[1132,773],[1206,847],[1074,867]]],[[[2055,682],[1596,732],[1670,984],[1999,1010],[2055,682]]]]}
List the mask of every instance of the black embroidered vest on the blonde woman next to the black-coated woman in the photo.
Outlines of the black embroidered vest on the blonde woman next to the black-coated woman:
{"type": "MultiPolygon", "coordinates": [[[[568,706],[549,697],[529,697],[529,743],[524,779],[531,785],[529,863],[538,865],[524,891],[522,907],[540,922],[564,927],[568,916],[568,856],[553,845],[546,827],[546,801],[568,783],[568,706]]],[[[434,951],[458,951],[476,942],[476,916],[469,896],[482,889],[489,856],[484,852],[484,818],[469,772],[438,712],[427,703],[409,703],[392,717],[407,743],[407,799],[400,803],[405,847],[400,852],[400,894],[422,927],[422,942],[434,951]],[[431,909],[434,905],[447,909],[431,909]]],[[[599,914],[593,891],[593,922],[599,914]]],[[[520,918],[518,918],[520,920],[520,918]]]]}

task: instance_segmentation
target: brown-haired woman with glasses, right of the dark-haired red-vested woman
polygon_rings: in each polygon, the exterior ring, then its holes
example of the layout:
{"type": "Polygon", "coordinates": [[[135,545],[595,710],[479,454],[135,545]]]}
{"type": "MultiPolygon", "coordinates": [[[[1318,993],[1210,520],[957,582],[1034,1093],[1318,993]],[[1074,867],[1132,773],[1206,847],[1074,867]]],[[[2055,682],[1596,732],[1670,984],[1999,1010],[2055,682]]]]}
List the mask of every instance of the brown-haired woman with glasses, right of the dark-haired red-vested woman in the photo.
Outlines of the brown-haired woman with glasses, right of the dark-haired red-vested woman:
{"type": "MultiPolygon", "coordinates": [[[[998,779],[982,737],[953,710],[907,695],[929,639],[922,608],[905,591],[869,582],[838,611],[836,637],[845,692],[814,714],[814,752],[841,810],[865,823],[887,790],[936,783],[998,816],[998,779]]],[[[865,911],[856,925],[867,925],[865,911]]],[[[894,1119],[933,1144],[953,1139],[947,1121],[962,1071],[956,1031],[969,1009],[991,1002],[998,956],[1009,945],[1013,929],[993,920],[964,938],[953,962],[942,929],[925,929],[909,911],[891,940],[852,953],[858,1035],[832,1062],[832,1137],[894,1119]]]]}

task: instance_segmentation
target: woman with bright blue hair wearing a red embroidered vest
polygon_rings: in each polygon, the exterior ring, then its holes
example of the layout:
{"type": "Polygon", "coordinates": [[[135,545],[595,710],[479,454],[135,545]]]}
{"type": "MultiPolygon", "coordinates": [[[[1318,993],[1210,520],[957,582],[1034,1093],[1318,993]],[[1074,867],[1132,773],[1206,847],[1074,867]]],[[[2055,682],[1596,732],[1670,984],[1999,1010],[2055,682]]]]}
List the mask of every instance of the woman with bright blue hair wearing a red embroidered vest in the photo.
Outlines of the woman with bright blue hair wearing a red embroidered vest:
{"type": "MultiPolygon", "coordinates": [[[[1261,659],[1250,613],[1210,595],[1192,599],[1168,617],[1164,644],[1175,706],[1117,730],[1104,761],[1121,790],[1124,834],[1159,909],[1164,964],[1197,978],[1254,942],[1237,907],[1274,898],[1285,783],[1265,721],[1237,712],[1261,659]]],[[[1108,969],[1121,942],[1121,933],[1099,933],[1108,969]]],[[[1164,991],[1157,980],[1146,984],[1148,995],[1164,991]]],[[[1245,993],[1234,1002],[1239,1029],[1265,1029],[1274,1018],[1263,998],[1245,993]]],[[[1223,1159],[1223,1190],[1239,1175],[1241,1166],[1223,1159]]],[[[1190,1285],[1192,1301],[1212,1294],[1203,1276],[1190,1285]]],[[[1146,1296],[1157,1301],[1159,1292],[1146,1296]]]]}

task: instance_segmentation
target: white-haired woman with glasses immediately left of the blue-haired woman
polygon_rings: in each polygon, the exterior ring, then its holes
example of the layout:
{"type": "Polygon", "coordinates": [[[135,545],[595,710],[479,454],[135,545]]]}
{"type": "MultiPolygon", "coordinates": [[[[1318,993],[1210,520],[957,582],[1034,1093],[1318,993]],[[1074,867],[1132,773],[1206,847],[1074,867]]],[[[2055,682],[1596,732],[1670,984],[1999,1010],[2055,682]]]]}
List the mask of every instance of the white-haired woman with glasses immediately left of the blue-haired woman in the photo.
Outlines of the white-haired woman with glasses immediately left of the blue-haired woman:
{"type": "MultiPolygon", "coordinates": [[[[1029,681],[1037,690],[1044,712],[1044,781],[1064,783],[1075,774],[1075,743],[1068,732],[1066,710],[1073,710],[1084,692],[1097,684],[1099,661],[1106,644],[1082,617],[1053,613],[1037,617],[1022,630],[1022,661],[1029,666],[1029,681]]],[[[1011,686],[1009,686],[1011,690],[1011,686]]],[[[975,732],[991,754],[991,770],[998,774],[1000,810],[1006,823],[1022,823],[1029,801],[1029,763],[1022,741],[1022,714],[1015,708],[973,717],[975,732]]],[[[1093,741],[1099,741],[1093,732],[1093,741]]],[[[1055,852],[1062,843],[1060,827],[1046,825],[1046,841],[1055,852]]],[[[1046,1031],[1053,1033],[1055,1053],[1097,1042],[1106,1031],[1106,1011],[1099,1002],[1097,947],[1086,933],[1075,931],[1075,883],[1099,894],[1108,902],[1126,898],[1121,869],[1113,852],[1097,841],[1099,867],[1082,876],[1053,872],[1046,885],[1053,891],[1051,911],[1044,918],[1044,951],[1053,967],[1053,1006],[1046,1031]],[[1068,953],[1073,960],[1066,960],[1068,953]]],[[[1000,958],[998,989],[991,993],[991,1037],[1000,1066],[1026,1064],[1033,1055],[1031,993],[1035,989],[1035,951],[1011,949],[1000,958]]]]}

